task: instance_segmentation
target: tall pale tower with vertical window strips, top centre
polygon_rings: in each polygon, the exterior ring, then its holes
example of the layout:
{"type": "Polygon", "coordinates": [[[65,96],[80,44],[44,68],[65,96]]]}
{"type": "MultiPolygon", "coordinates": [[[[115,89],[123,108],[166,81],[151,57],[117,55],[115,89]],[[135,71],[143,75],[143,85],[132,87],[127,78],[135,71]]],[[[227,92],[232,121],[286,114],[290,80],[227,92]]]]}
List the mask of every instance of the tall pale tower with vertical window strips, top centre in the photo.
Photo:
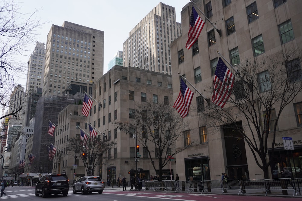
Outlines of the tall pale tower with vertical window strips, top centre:
{"type": "Polygon", "coordinates": [[[171,75],[170,43],[182,35],[175,8],[159,3],[123,43],[124,66],[171,75]]]}

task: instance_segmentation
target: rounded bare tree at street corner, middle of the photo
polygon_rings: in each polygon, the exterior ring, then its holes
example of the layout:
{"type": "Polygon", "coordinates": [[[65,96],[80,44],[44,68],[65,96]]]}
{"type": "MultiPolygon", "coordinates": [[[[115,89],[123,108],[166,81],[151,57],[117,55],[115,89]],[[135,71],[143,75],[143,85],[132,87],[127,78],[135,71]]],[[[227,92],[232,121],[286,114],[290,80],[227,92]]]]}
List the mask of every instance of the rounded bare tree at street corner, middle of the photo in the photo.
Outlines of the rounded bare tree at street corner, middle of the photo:
{"type": "Polygon", "coordinates": [[[152,166],[161,180],[162,169],[169,162],[168,153],[173,157],[194,144],[190,142],[176,149],[176,141],[183,140],[183,128],[188,125],[183,124],[181,116],[171,105],[164,103],[147,102],[137,105],[129,114],[130,121],[115,124],[121,131],[136,137],[146,148],[152,166]],[[158,167],[154,164],[155,160],[158,161],[158,167]]]}

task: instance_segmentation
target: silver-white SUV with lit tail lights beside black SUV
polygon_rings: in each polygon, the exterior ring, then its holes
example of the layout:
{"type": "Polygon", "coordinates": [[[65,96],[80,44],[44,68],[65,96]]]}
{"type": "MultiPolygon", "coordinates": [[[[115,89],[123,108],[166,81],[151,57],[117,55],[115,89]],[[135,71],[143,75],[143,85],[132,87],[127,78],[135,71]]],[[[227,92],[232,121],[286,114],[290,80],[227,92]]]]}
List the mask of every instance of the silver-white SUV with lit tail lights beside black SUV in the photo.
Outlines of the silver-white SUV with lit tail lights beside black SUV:
{"type": "Polygon", "coordinates": [[[98,192],[103,193],[104,182],[99,176],[81,177],[77,180],[72,187],[72,192],[77,193],[80,191],[83,195],[85,193],[98,192]]]}

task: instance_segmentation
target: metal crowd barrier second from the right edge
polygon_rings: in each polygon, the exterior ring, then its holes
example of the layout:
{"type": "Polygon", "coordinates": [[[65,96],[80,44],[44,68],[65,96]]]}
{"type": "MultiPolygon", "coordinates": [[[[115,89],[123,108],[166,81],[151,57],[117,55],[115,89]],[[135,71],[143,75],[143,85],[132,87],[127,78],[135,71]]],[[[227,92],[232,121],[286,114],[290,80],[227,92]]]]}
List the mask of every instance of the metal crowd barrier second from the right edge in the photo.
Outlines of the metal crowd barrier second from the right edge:
{"type": "Polygon", "coordinates": [[[272,190],[293,190],[295,195],[296,189],[294,182],[291,178],[282,178],[282,179],[265,179],[265,196],[267,193],[270,193],[272,190]],[[291,187],[288,186],[290,184],[291,187]]]}

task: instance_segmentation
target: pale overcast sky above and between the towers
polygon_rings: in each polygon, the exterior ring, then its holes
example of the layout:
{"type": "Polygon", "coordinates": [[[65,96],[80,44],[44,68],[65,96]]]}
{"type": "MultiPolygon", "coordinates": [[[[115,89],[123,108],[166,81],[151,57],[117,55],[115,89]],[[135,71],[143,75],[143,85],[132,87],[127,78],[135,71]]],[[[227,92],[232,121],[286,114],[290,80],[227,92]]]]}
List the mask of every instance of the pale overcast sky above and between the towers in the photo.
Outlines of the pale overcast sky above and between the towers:
{"type": "MultiPolygon", "coordinates": [[[[23,13],[31,13],[41,9],[37,17],[49,23],[38,30],[39,42],[45,42],[52,24],[62,26],[63,21],[80,24],[104,31],[104,74],[107,72],[108,62],[119,50],[123,50],[123,42],[129,32],[142,20],[159,2],[175,7],[176,21],[181,23],[180,12],[188,2],[186,0],[19,0],[23,13]]],[[[45,46],[46,47],[46,46],[45,46]]],[[[24,58],[26,64],[29,56],[24,58]]],[[[18,83],[25,89],[26,75],[18,83]]]]}

